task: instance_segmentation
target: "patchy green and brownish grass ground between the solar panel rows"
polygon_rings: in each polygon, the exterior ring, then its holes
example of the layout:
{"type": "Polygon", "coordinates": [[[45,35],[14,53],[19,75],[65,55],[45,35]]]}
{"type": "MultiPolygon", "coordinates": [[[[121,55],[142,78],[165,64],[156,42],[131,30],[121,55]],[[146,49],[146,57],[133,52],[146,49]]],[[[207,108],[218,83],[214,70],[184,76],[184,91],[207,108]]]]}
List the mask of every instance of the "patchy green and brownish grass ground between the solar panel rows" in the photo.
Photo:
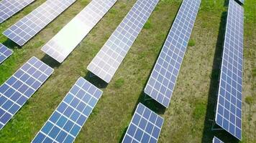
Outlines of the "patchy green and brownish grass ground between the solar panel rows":
{"type": "MultiPolygon", "coordinates": [[[[0,33],[44,1],[35,1],[0,24],[0,33]]],[[[55,69],[47,82],[1,130],[0,142],[31,142],[78,77],[85,77],[96,86],[101,84],[96,78],[88,78],[86,67],[135,1],[119,0],[63,64],[53,61],[40,48],[89,0],[76,1],[22,48],[0,35],[0,42],[14,51],[0,66],[0,84],[32,56],[55,69]]],[[[256,3],[245,1],[242,142],[253,143],[256,142],[256,3]]],[[[121,142],[138,102],[164,117],[159,142],[211,142],[214,135],[225,142],[235,142],[226,132],[211,131],[227,17],[224,0],[202,0],[168,109],[163,111],[152,101],[143,101],[145,84],[181,2],[160,0],[114,78],[101,88],[104,94],[75,142],[121,142]]]]}

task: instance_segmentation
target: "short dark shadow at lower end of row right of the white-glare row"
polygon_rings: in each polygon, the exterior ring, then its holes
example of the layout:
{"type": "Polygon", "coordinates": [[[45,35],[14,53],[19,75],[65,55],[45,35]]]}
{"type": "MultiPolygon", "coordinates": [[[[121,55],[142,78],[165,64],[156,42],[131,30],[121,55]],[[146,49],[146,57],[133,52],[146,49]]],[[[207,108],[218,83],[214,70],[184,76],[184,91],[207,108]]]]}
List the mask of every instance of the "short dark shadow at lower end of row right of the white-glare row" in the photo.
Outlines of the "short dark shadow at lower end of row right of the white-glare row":
{"type": "Polygon", "coordinates": [[[104,82],[104,80],[91,73],[91,71],[86,73],[86,77],[84,77],[84,79],[86,79],[88,82],[91,82],[91,84],[98,87],[99,89],[105,89],[108,86],[108,83],[104,82]]]}

